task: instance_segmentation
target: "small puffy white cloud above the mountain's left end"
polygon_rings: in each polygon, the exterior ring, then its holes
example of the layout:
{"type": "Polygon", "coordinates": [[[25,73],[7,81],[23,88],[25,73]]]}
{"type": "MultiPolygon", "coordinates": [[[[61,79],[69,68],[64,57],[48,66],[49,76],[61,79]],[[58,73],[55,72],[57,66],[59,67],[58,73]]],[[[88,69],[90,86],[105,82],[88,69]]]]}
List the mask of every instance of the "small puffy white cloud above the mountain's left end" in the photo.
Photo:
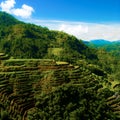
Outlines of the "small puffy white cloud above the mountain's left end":
{"type": "Polygon", "coordinates": [[[21,8],[15,8],[15,4],[15,0],[6,0],[4,2],[1,2],[0,8],[2,11],[22,18],[30,18],[32,12],[34,12],[34,9],[31,6],[23,4],[21,8]]]}

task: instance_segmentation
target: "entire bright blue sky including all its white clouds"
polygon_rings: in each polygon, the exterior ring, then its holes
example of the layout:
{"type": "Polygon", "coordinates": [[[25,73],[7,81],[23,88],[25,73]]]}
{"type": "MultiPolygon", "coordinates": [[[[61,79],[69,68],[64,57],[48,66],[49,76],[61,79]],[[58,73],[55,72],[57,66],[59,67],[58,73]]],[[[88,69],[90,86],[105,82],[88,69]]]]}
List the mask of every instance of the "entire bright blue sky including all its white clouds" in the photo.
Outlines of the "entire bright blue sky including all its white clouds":
{"type": "Polygon", "coordinates": [[[86,41],[120,40],[119,6],[120,0],[0,0],[0,11],[86,41]]]}

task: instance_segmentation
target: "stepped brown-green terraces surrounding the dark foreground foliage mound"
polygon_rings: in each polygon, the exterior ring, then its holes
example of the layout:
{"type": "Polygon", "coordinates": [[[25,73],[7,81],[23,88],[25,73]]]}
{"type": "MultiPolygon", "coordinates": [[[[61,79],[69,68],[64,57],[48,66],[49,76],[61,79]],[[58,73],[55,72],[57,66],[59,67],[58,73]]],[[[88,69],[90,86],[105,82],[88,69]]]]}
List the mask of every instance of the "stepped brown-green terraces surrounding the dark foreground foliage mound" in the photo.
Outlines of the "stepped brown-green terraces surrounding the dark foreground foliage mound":
{"type": "MultiPolygon", "coordinates": [[[[8,59],[4,54],[1,54],[0,58],[1,111],[6,110],[13,120],[28,120],[31,113],[31,120],[35,119],[36,109],[43,109],[39,107],[39,104],[42,104],[41,96],[56,93],[61,86],[84,88],[86,92],[94,91],[96,95],[101,93],[99,91],[104,91],[103,76],[91,73],[82,66],[73,66],[52,59],[8,59]]],[[[119,94],[117,97],[111,95],[106,97],[107,104],[119,116],[119,94]]],[[[47,115],[44,117],[46,118],[39,116],[41,119],[49,119],[47,115]]]]}

